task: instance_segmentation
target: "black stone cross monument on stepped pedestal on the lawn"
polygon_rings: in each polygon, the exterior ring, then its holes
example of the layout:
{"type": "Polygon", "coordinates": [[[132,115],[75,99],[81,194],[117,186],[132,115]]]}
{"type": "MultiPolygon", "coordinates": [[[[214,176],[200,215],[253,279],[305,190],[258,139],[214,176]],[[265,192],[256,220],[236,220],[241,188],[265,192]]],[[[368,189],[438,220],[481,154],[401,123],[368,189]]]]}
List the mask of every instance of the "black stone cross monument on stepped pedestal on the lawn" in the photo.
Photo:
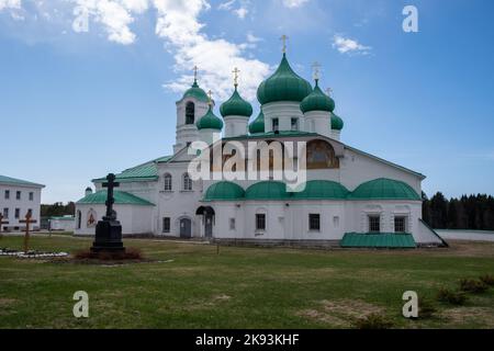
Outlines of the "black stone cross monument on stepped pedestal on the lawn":
{"type": "Polygon", "coordinates": [[[116,214],[113,211],[113,189],[120,183],[115,182],[115,174],[108,174],[103,188],[106,192],[106,215],[99,220],[96,227],[96,239],[91,247],[91,252],[122,252],[125,248],[122,242],[122,225],[116,220],[116,214]]]}

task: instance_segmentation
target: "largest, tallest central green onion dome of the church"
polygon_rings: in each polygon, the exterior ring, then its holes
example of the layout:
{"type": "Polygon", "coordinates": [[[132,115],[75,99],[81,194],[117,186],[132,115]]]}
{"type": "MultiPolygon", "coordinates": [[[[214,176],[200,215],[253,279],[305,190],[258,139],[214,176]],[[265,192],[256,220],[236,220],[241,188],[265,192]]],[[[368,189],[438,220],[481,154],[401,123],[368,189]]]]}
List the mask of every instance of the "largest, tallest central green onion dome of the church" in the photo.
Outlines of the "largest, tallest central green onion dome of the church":
{"type": "Polygon", "coordinates": [[[261,104],[274,101],[301,102],[311,92],[311,83],[293,71],[287,60],[287,55],[283,54],[277,71],[259,86],[257,100],[261,104]]]}

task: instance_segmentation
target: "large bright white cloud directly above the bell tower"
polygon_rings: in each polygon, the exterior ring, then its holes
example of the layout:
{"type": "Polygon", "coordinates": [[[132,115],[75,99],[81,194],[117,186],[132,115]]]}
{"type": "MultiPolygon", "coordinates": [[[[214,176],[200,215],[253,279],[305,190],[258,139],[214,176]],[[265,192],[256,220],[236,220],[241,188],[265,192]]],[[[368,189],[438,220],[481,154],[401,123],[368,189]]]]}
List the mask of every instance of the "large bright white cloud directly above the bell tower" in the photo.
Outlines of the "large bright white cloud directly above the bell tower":
{"type": "Polygon", "coordinates": [[[189,88],[192,76],[187,72],[197,65],[201,70],[201,87],[211,89],[216,99],[225,100],[233,90],[232,69],[238,67],[242,93],[255,100],[257,87],[269,73],[269,66],[245,58],[243,44],[212,39],[202,33],[204,25],[199,22],[199,15],[207,9],[203,0],[155,0],[155,5],[159,16],[156,33],[173,47],[176,69],[182,72],[177,81],[166,83],[166,88],[177,92],[189,88]]]}

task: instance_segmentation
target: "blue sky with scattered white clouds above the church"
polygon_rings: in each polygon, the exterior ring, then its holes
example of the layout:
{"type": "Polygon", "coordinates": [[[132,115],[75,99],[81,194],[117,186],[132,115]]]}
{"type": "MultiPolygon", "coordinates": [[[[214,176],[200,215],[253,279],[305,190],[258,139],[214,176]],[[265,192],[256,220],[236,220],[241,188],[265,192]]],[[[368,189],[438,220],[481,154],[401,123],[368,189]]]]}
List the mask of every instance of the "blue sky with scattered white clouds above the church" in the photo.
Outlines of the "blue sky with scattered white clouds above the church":
{"type": "Polygon", "coordinates": [[[77,201],[170,155],[195,65],[217,106],[238,67],[254,120],[284,34],[299,75],[322,65],[344,143],[427,176],[428,195],[494,194],[493,14],[484,0],[0,0],[0,174],[77,201]]]}

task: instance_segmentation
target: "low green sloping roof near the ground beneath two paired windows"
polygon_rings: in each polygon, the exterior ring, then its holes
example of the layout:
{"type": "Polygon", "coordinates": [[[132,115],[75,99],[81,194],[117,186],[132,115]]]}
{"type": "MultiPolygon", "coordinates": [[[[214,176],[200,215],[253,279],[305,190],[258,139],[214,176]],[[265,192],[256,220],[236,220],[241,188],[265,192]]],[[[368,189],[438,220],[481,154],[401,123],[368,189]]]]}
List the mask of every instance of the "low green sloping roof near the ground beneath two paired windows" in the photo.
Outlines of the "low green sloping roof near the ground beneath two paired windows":
{"type": "Polygon", "coordinates": [[[411,234],[378,233],[359,234],[347,233],[340,241],[343,248],[396,248],[414,249],[417,247],[411,234]]]}

